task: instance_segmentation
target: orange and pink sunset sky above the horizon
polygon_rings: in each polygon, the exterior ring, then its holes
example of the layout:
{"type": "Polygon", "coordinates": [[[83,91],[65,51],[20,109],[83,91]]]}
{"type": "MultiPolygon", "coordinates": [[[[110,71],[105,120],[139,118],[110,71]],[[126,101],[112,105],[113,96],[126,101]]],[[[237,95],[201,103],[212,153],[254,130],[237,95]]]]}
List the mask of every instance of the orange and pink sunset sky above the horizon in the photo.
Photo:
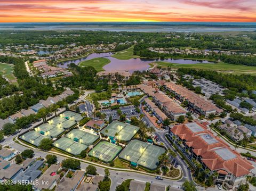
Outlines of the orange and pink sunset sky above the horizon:
{"type": "Polygon", "coordinates": [[[0,0],[0,22],[256,22],[256,0],[0,0]]]}

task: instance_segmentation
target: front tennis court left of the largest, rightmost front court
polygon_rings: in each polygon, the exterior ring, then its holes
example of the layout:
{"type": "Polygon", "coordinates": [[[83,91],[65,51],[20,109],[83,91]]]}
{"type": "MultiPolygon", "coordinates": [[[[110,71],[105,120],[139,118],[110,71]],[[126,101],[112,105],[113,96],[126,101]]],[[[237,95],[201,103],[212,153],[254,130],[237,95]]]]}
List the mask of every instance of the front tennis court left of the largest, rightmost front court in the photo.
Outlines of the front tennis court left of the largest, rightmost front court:
{"type": "Polygon", "coordinates": [[[100,142],[88,153],[88,155],[108,163],[113,161],[121,150],[121,146],[109,142],[100,142]]]}

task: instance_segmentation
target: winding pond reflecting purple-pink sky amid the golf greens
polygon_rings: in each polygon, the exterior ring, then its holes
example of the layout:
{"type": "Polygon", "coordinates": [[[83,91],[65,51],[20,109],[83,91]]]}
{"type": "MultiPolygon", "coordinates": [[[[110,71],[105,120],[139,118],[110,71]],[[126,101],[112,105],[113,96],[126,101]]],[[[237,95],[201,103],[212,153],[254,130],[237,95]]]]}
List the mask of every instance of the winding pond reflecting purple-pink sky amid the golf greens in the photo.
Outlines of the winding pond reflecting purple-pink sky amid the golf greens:
{"type": "Polygon", "coordinates": [[[189,59],[129,59],[129,60],[118,60],[115,57],[111,57],[113,53],[92,53],[87,57],[82,57],[80,59],[64,61],[58,64],[61,68],[68,68],[70,63],[79,64],[85,60],[91,60],[97,57],[105,57],[110,60],[110,63],[103,67],[106,71],[115,71],[115,70],[128,70],[129,72],[134,72],[135,70],[143,71],[147,70],[150,65],[149,63],[155,61],[164,61],[176,64],[199,64],[199,63],[212,63],[206,60],[189,60],[189,59]]]}

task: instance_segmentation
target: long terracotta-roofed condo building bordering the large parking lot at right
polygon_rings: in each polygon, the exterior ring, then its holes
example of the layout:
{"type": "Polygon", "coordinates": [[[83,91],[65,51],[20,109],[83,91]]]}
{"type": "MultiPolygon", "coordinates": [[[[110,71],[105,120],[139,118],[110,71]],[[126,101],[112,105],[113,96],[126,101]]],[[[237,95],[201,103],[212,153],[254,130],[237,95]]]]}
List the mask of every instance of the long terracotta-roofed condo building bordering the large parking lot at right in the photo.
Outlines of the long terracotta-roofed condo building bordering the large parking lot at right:
{"type": "Polygon", "coordinates": [[[164,87],[175,95],[181,102],[187,101],[188,106],[195,110],[195,112],[209,117],[212,114],[221,113],[222,110],[215,106],[213,103],[206,101],[203,97],[191,92],[185,87],[174,84],[173,82],[167,82],[164,87]]]}

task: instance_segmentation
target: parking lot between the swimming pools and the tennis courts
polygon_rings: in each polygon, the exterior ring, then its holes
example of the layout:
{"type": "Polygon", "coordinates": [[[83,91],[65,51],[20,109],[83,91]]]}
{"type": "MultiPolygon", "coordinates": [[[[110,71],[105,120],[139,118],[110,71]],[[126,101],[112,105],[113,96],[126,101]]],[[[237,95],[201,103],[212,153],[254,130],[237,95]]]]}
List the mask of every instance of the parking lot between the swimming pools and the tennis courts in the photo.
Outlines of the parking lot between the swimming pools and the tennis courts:
{"type": "MultiPolygon", "coordinates": [[[[135,110],[135,107],[133,105],[125,106],[125,107],[120,107],[119,110],[122,111],[123,114],[126,115],[126,118],[131,118],[131,117],[139,117],[140,113],[138,113],[135,110]]],[[[112,119],[116,120],[119,119],[119,115],[117,114],[117,110],[111,110],[111,109],[104,109],[100,110],[101,113],[106,113],[107,117],[106,119],[108,120],[109,116],[112,115],[112,119]]]]}

